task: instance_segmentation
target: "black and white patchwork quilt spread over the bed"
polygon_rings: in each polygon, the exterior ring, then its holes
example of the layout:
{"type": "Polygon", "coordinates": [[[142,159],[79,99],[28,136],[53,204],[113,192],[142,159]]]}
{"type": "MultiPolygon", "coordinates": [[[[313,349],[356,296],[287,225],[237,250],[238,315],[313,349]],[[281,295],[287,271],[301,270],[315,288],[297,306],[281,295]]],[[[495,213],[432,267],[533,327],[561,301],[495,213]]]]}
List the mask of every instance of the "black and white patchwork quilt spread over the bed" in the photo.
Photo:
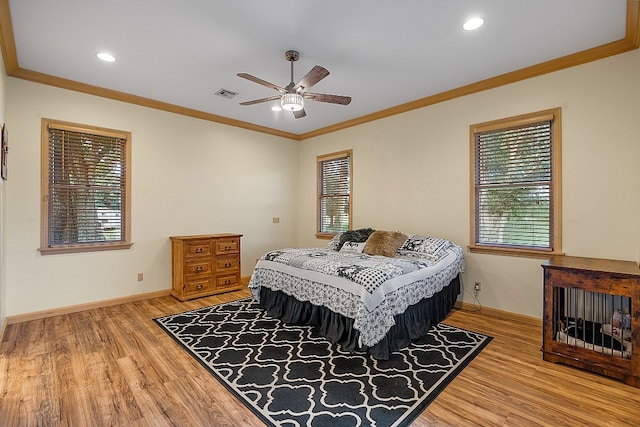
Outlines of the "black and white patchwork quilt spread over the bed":
{"type": "Polygon", "coordinates": [[[433,296],[462,271],[458,245],[451,245],[438,261],[288,248],[260,258],[249,288],[256,300],[264,286],[354,319],[360,345],[370,347],[395,324],[395,315],[433,296]]]}

